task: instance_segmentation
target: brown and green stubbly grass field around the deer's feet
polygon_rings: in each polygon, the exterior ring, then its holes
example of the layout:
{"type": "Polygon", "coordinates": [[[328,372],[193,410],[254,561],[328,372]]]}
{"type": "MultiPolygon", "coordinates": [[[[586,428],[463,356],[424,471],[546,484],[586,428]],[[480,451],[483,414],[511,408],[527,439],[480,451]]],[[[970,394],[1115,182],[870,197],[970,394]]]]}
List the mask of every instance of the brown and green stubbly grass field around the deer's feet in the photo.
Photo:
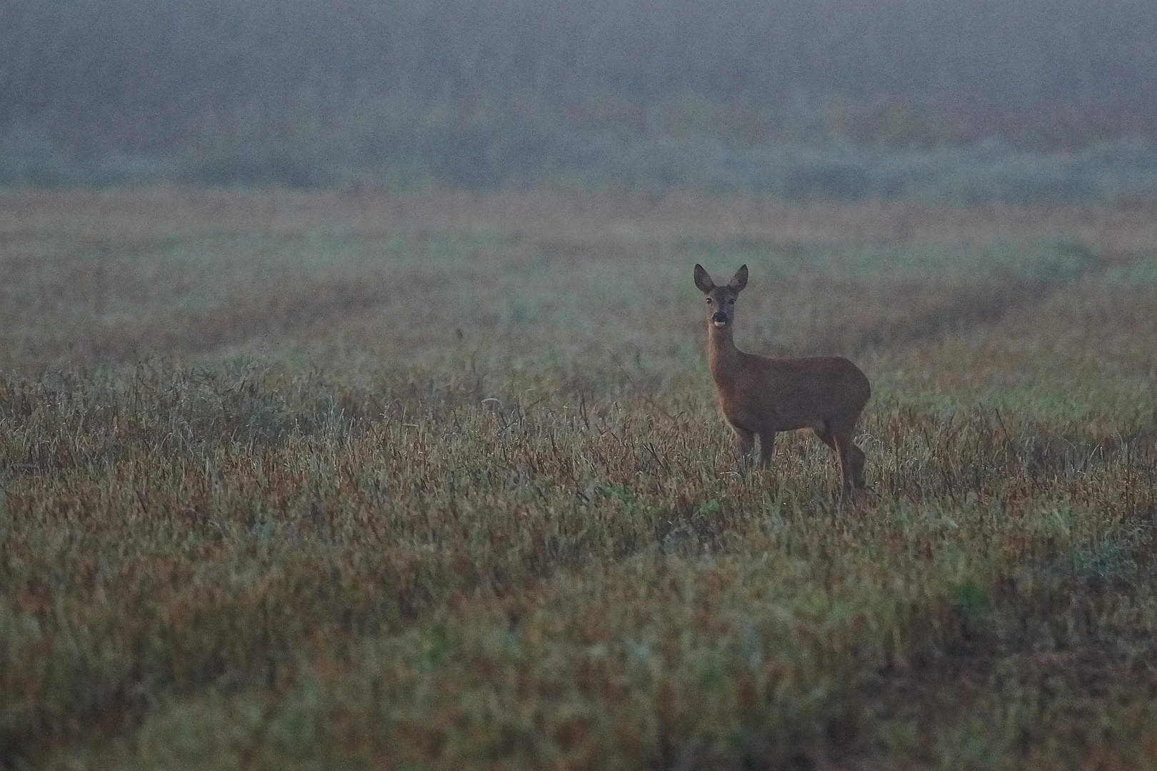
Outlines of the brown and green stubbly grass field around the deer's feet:
{"type": "Polygon", "coordinates": [[[1157,768],[1157,216],[0,197],[0,768],[1157,768]],[[872,491],[732,457],[740,348],[872,491]]]}

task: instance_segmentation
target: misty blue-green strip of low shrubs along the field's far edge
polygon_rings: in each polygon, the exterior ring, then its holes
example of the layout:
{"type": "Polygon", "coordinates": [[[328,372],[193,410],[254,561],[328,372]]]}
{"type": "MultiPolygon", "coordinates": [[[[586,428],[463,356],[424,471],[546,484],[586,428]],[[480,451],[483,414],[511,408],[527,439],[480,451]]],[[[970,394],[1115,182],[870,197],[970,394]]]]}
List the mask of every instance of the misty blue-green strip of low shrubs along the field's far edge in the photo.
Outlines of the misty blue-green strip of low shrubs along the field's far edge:
{"type": "Polygon", "coordinates": [[[1157,143],[1140,138],[1079,153],[996,142],[922,150],[846,142],[731,148],[695,136],[587,138],[511,116],[476,116],[460,125],[405,120],[383,125],[362,116],[293,138],[258,126],[226,146],[162,155],[68,154],[45,133],[17,126],[0,134],[0,186],[554,187],[968,207],[1157,201],[1157,143]]]}

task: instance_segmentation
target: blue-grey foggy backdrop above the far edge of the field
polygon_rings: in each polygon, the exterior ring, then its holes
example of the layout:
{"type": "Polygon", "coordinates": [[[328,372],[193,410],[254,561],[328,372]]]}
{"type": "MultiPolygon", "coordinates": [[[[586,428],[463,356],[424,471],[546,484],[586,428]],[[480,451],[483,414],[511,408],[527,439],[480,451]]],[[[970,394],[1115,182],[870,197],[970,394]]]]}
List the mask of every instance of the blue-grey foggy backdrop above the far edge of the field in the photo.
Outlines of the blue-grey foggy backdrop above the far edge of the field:
{"type": "Polygon", "coordinates": [[[1084,151],[1155,118],[1149,0],[0,5],[9,178],[485,186],[661,146],[1084,151]]]}

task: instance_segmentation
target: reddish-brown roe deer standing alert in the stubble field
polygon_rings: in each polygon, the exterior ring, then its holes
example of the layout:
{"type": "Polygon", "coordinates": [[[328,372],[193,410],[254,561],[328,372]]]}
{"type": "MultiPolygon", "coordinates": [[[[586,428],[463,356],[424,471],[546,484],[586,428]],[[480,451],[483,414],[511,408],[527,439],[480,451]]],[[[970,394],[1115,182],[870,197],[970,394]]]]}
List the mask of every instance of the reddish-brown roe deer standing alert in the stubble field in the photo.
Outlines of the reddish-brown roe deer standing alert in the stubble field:
{"type": "Polygon", "coordinates": [[[835,451],[843,489],[862,488],[864,453],[852,439],[871,385],[860,368],[840,356],[767,358],[738,350],[731,326],[746,265],[723,287],[697,265],[695,286],[707,295],[707,364],[740,454],[759,435],[759,465],[766,467],[776,431],[811,429],[835,451]]]}

